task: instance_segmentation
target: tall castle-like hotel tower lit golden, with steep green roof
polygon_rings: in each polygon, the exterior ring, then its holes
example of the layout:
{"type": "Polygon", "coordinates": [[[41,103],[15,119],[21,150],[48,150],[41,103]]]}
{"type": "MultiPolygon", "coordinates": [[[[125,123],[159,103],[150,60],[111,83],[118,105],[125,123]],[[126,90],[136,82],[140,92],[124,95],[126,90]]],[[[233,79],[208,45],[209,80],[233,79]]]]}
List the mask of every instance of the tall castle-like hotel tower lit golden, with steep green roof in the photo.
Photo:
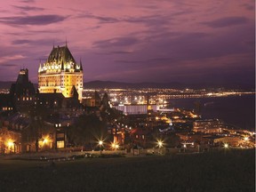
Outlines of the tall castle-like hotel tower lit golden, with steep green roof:
{"type": "Polygon", "coordinates": [[[40,93],[61,92],[64,97],[72,97],[72,87],[76,87],[78,99],[82,100],[83,67],[68,50],[68,45],[52,48],[48,59],[38,68],[38,89],[40,93]]]}

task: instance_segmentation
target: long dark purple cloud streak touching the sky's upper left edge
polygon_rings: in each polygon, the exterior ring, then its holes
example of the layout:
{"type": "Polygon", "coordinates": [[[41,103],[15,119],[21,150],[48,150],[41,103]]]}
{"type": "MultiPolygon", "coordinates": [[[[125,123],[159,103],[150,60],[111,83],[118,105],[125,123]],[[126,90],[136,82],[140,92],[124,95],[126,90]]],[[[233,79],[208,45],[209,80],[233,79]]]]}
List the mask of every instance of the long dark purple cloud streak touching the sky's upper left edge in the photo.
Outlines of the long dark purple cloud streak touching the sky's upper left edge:
{"type": "Polygon", "coordinates": [[[10,25],[48,25],[56,22],[66,20],[67,17],[60,15],[36,15],[26,17],[2,17],[0,23],[10,25]]]}

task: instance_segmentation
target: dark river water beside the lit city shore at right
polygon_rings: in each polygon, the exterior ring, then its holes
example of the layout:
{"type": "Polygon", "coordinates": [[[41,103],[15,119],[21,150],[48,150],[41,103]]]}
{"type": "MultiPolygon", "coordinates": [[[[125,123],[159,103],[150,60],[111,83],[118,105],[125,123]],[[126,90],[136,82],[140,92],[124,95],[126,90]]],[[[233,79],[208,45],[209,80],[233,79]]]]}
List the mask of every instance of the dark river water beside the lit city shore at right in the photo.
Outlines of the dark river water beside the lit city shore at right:
{"type": "Polygon", "coordinates": [[[198,103],[198,101],[204,119],[219,118],[242,129],[255,129],[254,94],[217,98],[171,99],[170,107],[196,109],[196,102],[198,103]]]}

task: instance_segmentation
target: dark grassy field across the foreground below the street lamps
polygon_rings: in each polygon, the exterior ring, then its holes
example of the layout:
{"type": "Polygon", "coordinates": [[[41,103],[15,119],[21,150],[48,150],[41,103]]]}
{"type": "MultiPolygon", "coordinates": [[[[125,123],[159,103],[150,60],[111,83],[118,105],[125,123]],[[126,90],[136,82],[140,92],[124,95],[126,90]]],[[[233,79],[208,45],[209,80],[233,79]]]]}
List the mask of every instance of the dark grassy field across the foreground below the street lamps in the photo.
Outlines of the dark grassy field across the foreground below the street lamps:
{"type": "Polygon", "coordinates": [[[255,191],[255,151],[195,155],[0,160],[0,191],[255,191]]]}

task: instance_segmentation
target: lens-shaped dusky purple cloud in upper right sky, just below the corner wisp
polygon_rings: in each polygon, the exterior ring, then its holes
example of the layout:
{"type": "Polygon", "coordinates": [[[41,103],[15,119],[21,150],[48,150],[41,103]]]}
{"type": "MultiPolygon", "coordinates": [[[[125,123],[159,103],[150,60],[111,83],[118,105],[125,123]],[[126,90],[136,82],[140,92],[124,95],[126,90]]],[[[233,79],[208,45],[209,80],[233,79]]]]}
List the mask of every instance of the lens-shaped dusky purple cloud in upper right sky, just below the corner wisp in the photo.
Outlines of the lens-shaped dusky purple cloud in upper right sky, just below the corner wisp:
{"type": "Polygon", "coordinates": [[[226,17],[218,20],[212,20],[208,22],[202,22],[202,24],[211,28],[225,28],[228,26],[235,26],[245,24],[249,20],[245,17],[226,17]]]}

